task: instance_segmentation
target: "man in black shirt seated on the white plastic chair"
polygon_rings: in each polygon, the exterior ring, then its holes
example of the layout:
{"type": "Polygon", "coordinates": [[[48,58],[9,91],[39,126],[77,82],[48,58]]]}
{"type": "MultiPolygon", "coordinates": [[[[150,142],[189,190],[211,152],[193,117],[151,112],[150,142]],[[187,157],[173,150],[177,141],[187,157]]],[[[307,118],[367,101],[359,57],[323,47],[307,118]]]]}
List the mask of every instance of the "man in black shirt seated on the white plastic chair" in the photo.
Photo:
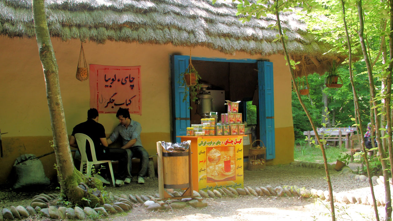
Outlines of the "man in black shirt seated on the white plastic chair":
{"type": "MultiPolygon", "coordinates": [[[[98,123],[98,111],[92,108],[87,111],[87,121],[79,123],[76,125],[70,137],[70,146],[77,148],[78,144],[75,140],[76,133],[83,133],[89,136],[93,143],[95,149],[95,157],[97,160],[118,160],[119,161],[119,179],[126,178],[130,180],[131,176],[127,176],[127,152],[119,148],[108,148],[107,139],[105,136],[105,129],[101,123],[98,123]]],[[[86,140],[86,155],[89,161],[92,161],[92,152],[90,150],[90,144],[86,140]]],[[[116,184],[121,186],[124,184],[122,180],[116,180],[116,184]],[[121,181],[121,182],[118,182],[121,181]]]]}

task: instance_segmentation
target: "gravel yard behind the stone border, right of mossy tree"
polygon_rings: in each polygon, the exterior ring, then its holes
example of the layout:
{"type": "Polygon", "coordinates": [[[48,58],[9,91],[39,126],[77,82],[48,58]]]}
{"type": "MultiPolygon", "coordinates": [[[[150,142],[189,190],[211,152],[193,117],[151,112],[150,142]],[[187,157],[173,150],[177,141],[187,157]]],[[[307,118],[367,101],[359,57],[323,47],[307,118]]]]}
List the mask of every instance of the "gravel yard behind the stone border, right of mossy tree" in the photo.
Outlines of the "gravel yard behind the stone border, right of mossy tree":
{"type": "MultiPolygon", "coordinates": [[[[361,195],[368,195],[370,187],[368,182],[357,181],[345,175],[340,175],[335,170],[329,170],[332,188],[336,193],[348,192],[361,195]]],[[[276,186],[297,186],[305,187],[310,190],[329,190],[325,180],[326,173],[324,169],[304,168],[294,165],[275,165],[267,166],[263,170],[244,170],[244,185],[252,188],[270,185],[276,186]]],[[[384,187],[382,185],[374,185],[376,196],[384,195],[384,187]]],[[[158,179],[146,180],[143,185],[132,182],[129,185],[114,188],[107,186],[106,190],[115,195],[119,194],[144,194],[153,195],[158,193],[158,179]]]]}

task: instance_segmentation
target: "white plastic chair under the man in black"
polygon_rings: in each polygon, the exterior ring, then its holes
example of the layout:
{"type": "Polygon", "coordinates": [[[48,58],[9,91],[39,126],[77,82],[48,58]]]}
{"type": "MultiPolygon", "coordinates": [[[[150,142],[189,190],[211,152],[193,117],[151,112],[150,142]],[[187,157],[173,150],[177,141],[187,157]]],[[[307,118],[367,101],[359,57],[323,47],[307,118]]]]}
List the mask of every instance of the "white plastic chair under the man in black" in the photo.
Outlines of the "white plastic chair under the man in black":
{"type": "Polygon", "coordinates": [[[76,133],[75,134],[75,140],[78,144],[79,151],[81,152],[82,160],[81,160],[81,168],[79,171],[81,173],[83,172],[83,165],[86,164],[86,173],[87,176],[90,177],[92,174],[92,166],[93,164],[102,164],[102,163],[108,163],[109,164],[109,170],[110,170],[110,175],[112,176],[112,183],[113,186],[115,186],[115,178],[113,176],[113,170],[112,170],[112,161],[111,160],[97,160],[97,157],[95,157],[95,149],[94,149],[94,143],[92,139],[87,136],[86,134],[82,133],[76,133]],[[90,144],[90,150],[92,151],[92,159],[93,161],[88,161],[87,155],[86,155],[86,140],[89,141],[90,144]]]}

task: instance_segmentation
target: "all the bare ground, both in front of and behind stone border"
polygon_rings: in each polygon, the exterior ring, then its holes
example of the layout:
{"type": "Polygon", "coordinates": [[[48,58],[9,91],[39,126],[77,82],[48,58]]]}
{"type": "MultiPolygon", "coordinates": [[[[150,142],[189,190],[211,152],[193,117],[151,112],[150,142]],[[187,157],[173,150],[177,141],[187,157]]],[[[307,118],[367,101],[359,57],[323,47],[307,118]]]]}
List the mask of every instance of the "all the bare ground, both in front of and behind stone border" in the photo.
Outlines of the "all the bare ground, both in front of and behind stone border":
{"type": "MultiPolygon", "coordinates": [[[[268,166],[261,171],[244,171],[244,184],[255,188],[257,186],[298,186],[308,189],[327,190],[324,179],[325,171],[316,168],[302,168],[292,165],[268,166]]],[[[339,175],[331,171],[333,190],[339,192],[369,192],[366,182],[359,182],[339,175]]],[[[380,187],[375,186],[376,189],[380,187]]],[[[114,188],[107,186],[108,192],[119,194],[154,195],[158,192],[158,179],[146,179],[144,185],[135,182],[114,188]]],[[[41,190],[44,193],[58,192],[53,186],[41,190]]],[[[0,207],[9,208],[11,205],[27,206],[33,195],[39,192],[14,192],[2,190],[0,192],[0,207]],[[8,196],[8,197],[5,197],[8,196]]],[[[196,221],[196,220],[233,220],[253,221],[261,219],[289,220],[289,221],[312,221],[331,220],[329,216],[330,204],[315,199],[299,199],[298,197],[254,197],[241,196],[237,198],[205,199],[208,203],[206,208],[193,208],[187,206],[182,210],[167,210],[148,212],[145,206],[135,204],[132,212],[112,215],[102,218],[102,221],[196,221]]],[[[376,220],[373,207],[363,204],[340,204],[335,203],[337,220],[376,220]]],[[[378,208],[380,214],[384,214],[384,208],[378,208]]],[[[30,219],[28,219],[30,220],[30,219]]],[[[38,219],[35,219],[38,220],[38,219]]],[[[45,220],[40,218],[39,220],[45,220]]],[[[381,219],[382,220],[382,219],[381,219]]]]}

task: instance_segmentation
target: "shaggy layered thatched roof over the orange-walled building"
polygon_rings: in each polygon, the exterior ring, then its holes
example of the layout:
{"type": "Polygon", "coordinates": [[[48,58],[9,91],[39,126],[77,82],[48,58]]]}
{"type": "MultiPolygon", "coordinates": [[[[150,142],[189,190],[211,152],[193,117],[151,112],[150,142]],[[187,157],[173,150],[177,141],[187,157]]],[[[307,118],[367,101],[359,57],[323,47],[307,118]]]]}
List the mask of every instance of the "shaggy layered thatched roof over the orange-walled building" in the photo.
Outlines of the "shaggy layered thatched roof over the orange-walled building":
{"type": "MultiPolygon", "coordinates": [[[[242,24],[236,4],[211,0],[45,0],[50,34],[63,41],[81,39],[206,46],[224,53],[283,54],[276,30],[267,28],[275,17],[252,19],[242,24]]],[[[306,56],[330,66],[329,47],[314,40],[295,13],[281,15],[287,30],[289,53],[306,56]]],[[[31,0],[0,0],[0,34],[34,37],[31,0]]],[[[303,61],[303,59],[302,59],[303,61]]],[[[312,63],[314,64],[314,63],[312,63]]],[[[307,66],[307,65],[306,65],[307,66]]],[[[308,65],[307,73],[325,68],[308,65]]]]}

